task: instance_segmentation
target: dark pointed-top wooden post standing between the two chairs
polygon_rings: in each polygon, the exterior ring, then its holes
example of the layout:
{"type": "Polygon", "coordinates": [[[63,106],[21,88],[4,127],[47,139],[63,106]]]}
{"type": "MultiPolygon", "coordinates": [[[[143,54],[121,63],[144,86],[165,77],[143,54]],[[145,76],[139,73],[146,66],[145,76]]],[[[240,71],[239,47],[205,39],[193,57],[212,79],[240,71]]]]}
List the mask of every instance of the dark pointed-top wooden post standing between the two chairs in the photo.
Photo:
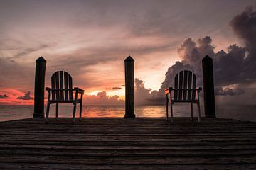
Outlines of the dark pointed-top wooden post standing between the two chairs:
{"type": "Polygon", "coordinates": [[[125,115],[134,118],[134,59],[129,56],[124,60],[125,67],[125,115]]]}

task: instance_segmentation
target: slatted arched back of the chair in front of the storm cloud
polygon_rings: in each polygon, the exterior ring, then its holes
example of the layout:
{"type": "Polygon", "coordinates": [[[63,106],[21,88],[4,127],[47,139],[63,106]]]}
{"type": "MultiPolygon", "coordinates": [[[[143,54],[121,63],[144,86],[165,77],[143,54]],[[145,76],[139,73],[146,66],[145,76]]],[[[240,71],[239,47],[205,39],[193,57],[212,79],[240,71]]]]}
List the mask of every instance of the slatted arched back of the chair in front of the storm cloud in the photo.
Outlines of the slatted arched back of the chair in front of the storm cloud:
{"type": "Polygon", "coordinates": [[[194,101],[196,99],[196,75],[188,70],[183,70],[176,74],[174,79],[174,100],[176,101],[194,101]]]}

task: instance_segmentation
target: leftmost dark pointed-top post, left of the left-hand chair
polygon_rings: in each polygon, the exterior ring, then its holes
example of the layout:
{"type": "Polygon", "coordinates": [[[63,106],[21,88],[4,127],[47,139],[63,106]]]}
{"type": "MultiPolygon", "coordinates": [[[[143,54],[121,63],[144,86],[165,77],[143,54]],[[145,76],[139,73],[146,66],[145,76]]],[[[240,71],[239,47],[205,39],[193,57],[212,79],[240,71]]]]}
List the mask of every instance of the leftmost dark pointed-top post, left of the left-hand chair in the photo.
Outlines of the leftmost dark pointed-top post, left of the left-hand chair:
{"type": "Polygon", "coordinates": [[[44,117],[44,89],[45,89],[46,60],[39,57],[36,60],[34,118],[44,117]]]}

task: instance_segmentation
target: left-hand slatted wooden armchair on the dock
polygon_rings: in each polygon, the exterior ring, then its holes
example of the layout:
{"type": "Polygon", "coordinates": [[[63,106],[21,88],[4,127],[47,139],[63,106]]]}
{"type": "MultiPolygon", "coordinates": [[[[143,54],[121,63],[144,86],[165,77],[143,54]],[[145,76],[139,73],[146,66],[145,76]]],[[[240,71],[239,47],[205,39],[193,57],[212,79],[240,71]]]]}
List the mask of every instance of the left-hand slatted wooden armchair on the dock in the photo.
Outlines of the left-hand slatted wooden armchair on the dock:
{"type": "Polygon", "coordinates": [[[56,120],[58,119],[58,103],[73,103],[73,123],[75,122],[75,111],[77,103],[80,103],[80,120],[82,120],[82,96],[84,90],[74,87],[72,84],[72,77],[67,72],[58,71],[51,77],[51,88],[46,87],[48,91],[48,103],[46,110],[46,122],[48,121],[50,104],[56,103],[56,120]],[[73,91],[75,91],[75,98],[73,98],[73,91]],[[80,94],[80,98],[78,98],[80,94]]]}

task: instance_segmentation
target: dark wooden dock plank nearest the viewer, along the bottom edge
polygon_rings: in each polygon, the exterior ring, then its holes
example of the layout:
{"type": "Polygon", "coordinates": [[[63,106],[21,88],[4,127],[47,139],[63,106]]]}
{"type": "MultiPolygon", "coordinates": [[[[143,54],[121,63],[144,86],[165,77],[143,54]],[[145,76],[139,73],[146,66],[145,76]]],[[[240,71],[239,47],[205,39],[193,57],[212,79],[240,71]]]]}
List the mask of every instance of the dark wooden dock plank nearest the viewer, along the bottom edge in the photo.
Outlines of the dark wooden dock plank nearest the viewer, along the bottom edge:
{"type": "Polygon", "coordinates": [[[17,163],[0,163],[0,169],[13,170],[13,169],[28,169],[28,170],[38,170],[38,169],[73,169],[73,170],[84,170],[84,169],[125,169],[125,170],[151,170],[151,169],[233,169],[233,170],[248,170],[256,169],[255,164],[197,164],[197,165],[139,165],[139,164],[105,164],[93,165],[93,164],[32,164],[23,163],[22,166],[17,163]]]}

